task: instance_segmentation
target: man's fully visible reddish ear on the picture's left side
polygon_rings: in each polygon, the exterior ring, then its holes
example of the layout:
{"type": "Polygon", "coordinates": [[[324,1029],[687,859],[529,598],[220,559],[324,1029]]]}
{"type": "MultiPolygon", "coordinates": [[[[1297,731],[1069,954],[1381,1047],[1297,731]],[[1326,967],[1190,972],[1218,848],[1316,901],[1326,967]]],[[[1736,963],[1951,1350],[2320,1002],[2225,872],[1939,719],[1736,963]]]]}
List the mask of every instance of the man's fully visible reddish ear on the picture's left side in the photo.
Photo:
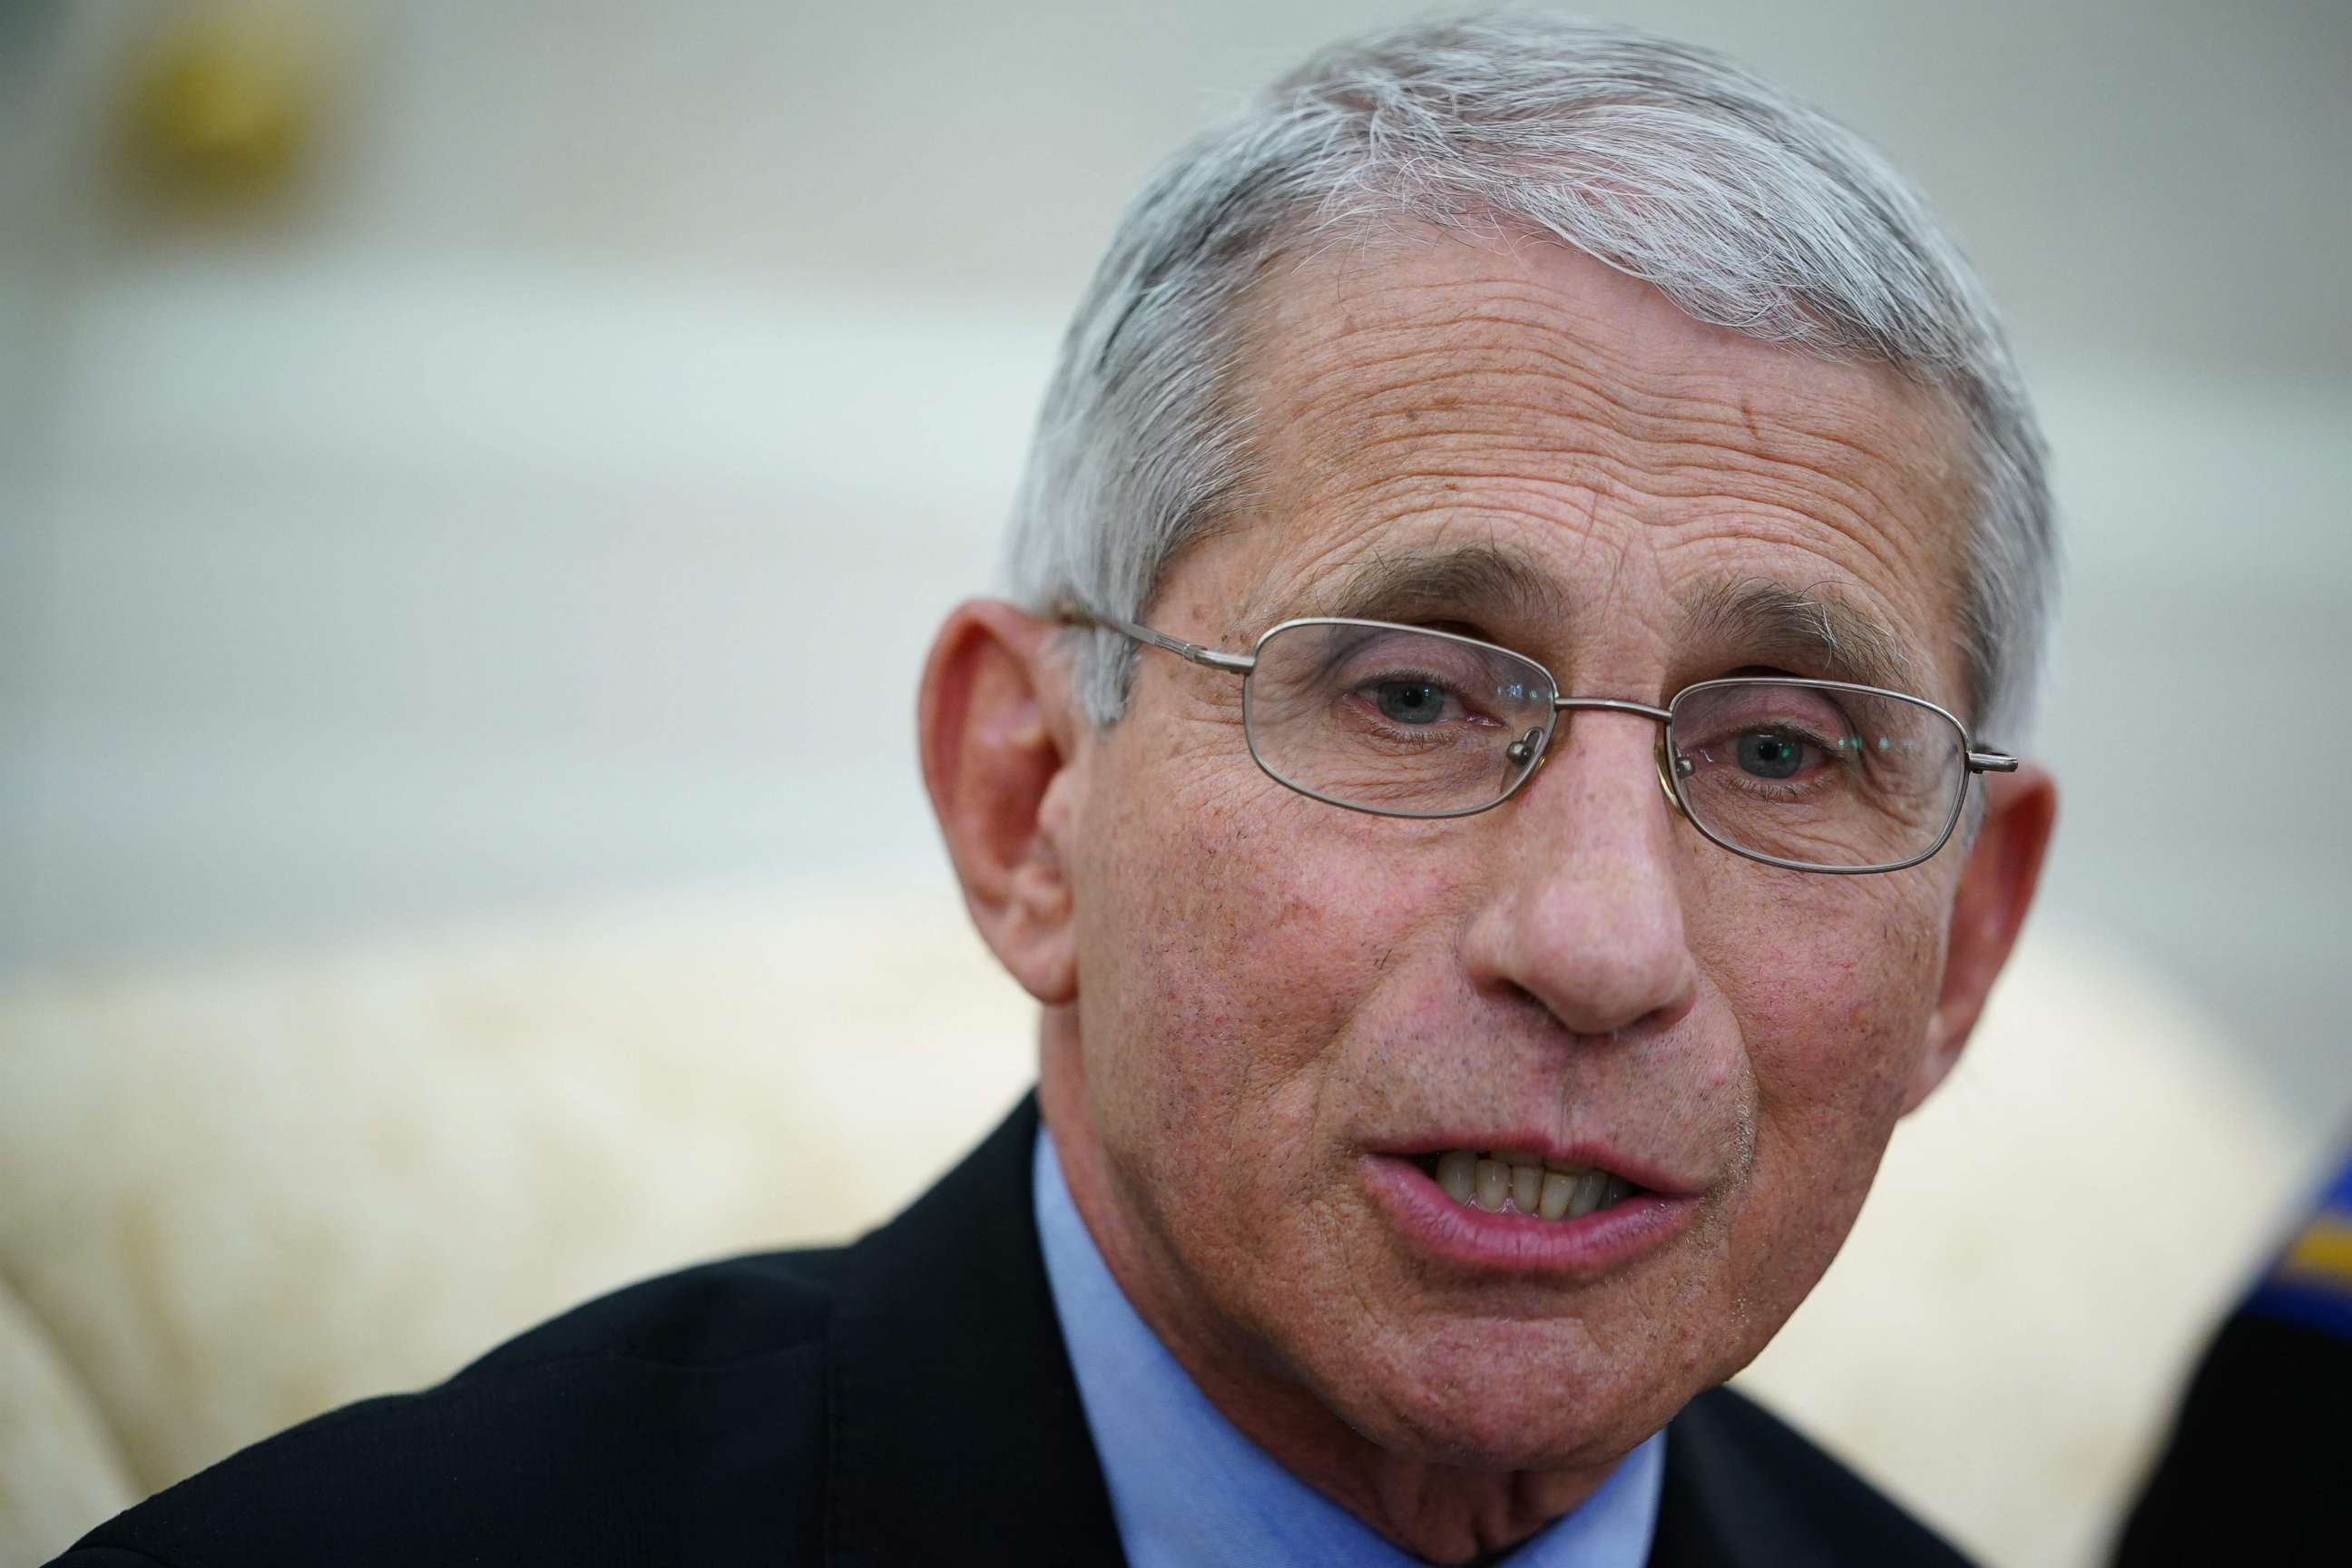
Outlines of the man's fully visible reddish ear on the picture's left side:
{"type": "Polygon", "coordinates": [[[1037,1001],[1077,997],[1065,846],[1082,726],[1054,625],[997,599],[957,604],[917,705],[922,783],[971,924],[1037,1001]]]}

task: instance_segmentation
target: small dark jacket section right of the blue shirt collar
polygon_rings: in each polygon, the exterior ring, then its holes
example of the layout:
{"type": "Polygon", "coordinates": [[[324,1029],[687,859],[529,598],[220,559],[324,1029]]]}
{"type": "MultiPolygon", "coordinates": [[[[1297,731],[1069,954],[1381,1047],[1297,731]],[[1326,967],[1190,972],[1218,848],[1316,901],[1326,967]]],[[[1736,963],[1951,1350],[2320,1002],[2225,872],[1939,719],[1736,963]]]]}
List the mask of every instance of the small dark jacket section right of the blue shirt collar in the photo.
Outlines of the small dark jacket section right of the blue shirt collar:
{"type": "Polygon", "coordinates": [[[1947,1540],[1778,1415],[1731,1389],[1668,1427],[1653,1568],[1773,1563],[1969,1568],[1947,1540]]]}

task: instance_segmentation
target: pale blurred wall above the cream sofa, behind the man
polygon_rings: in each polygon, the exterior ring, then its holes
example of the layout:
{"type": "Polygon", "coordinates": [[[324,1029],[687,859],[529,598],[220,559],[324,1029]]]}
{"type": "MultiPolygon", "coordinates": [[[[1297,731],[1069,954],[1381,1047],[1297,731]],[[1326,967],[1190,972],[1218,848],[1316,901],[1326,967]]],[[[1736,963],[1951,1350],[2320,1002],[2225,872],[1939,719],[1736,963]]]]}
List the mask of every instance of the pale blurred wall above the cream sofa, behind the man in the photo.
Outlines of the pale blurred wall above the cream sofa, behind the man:
{"type": "MultiPolygon", "coordinates": [[[[318,9],[318,7],[313,7],[318,9]]],[[[0,973],[677,882],[938,886],[910,691],[1117,205],[1418,7],[322,7],[289,216],[108,179],[158,7],[0,24],[0,973]]],[[[2070,581],[2053,917],[2352,1112],[2352,12],[1597,7],[1886,146],[2006,303],[2070,581]]]]}

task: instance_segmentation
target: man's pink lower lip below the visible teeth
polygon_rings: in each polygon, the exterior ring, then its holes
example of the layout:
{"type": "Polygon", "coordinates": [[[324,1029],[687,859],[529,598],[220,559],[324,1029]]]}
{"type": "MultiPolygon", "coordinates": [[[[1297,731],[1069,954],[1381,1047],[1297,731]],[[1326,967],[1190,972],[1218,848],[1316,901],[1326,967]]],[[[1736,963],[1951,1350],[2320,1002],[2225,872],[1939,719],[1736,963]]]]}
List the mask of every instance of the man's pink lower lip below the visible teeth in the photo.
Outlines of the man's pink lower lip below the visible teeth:
{"type": "MultiPolygon", "coordinates": [[[[1665,1246],[1698,1213],[1698,1194],[1651,1190],[1576,1220],[1541,1220],[1456,1204],[1406,1154],[1364,1154],[1364,1171],[1374,1201],[1406,1241],[1437,1262],[1484,1274],[1592,1279],[1665,1246]]],[[[1616,1171],[1639,1182],[1639,1173],[1616,1171]]]]}

